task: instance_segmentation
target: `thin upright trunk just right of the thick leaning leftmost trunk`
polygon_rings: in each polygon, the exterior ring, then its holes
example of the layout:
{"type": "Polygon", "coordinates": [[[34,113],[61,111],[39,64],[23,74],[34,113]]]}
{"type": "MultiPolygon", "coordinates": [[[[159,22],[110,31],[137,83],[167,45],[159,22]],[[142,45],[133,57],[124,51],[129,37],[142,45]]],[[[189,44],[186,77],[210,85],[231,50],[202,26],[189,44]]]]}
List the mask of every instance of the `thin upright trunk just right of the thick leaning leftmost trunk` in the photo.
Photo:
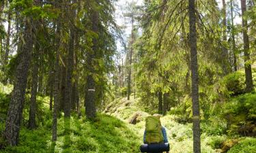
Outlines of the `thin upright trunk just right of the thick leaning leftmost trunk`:
{"type": "Polygon", "coordinates": [[[29,109],[29,129],[35,129],[35,114],[36,114],[36,95],[38,94],[38,50],[40,46],[35,44],[35,50],[33,52],[33,70],[32,70],[32,87],[29,109]]]}

